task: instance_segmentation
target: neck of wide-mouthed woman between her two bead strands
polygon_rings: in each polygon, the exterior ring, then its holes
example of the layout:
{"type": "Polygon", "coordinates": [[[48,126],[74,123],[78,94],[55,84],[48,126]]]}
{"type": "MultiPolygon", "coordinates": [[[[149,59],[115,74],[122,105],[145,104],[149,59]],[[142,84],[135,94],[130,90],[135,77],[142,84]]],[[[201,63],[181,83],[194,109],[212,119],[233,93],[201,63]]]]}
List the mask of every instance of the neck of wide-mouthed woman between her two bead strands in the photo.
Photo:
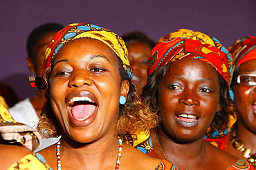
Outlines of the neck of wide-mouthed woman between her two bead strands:
{"type": "Polygon", "coordinates": [[[115,169],[118,147],[118,138],[113,135],[86,144],[71,143],[63,138],[60,148],[62,168],[115,169]]]}

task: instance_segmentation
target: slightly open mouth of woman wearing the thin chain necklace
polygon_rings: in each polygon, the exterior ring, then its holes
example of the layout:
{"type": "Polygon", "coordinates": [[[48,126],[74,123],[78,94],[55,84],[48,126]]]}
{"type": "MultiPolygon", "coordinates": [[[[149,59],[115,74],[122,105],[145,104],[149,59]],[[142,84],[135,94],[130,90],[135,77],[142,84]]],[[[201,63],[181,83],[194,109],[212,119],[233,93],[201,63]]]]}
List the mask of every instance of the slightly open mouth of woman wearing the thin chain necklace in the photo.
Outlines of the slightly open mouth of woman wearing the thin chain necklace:
{"type": "Polygon", "coordinates": [[[191,112],[184,111],[176,115],[176,121],[183,127],[193,127],[199,123],[199,116],[196,116],[191,112]]]}

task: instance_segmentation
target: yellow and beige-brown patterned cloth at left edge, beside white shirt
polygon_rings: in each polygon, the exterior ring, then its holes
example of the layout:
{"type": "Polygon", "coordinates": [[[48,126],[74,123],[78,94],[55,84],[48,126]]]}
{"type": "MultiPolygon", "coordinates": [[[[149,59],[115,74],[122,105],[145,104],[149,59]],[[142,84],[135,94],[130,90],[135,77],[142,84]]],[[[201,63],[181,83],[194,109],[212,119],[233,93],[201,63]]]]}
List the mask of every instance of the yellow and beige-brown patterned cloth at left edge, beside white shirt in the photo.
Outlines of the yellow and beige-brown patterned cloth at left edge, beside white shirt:
{"type": "Polygon", "coordinates": [[[35,129],[24,125],[23,123],[17,123],[12,119],[10,113],[6,107],[0,103],[0,135],[5,142],[14,144],[18,143],[24,147],[27,147],[31,151],[34,151],[39,147],[41,142],[41,135],[35,129]]]}

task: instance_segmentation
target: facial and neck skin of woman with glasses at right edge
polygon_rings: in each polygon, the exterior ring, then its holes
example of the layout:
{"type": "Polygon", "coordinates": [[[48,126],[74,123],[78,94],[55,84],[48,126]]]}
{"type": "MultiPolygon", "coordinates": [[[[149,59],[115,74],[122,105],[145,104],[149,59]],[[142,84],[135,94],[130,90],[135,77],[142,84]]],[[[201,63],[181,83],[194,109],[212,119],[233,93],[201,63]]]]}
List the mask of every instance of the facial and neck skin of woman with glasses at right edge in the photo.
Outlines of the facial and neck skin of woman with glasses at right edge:
{"type": "MultiPolygon", "coordinates": [[[[256,74],[256,59],[246,61],[239,67],[238,74],[256,74]]],[[[244,147],[250,148],[251,153],[256,153],[256,89],[255,86],[236,84],[232,87],[235,105],[238,109],[237,138],[244,143],[244,147]]],[[[226,151],[239,158],[244,158],[241,151],[232,147],[228,138],[226,151]]]]}

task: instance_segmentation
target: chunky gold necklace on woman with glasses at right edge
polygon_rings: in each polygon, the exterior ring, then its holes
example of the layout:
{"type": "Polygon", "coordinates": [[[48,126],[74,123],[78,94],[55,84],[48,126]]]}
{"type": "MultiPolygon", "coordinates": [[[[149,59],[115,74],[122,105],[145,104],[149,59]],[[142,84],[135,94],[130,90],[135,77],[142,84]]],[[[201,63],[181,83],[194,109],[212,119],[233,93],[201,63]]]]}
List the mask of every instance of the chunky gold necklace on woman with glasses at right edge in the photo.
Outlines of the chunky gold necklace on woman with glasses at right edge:
{"type": "Polygon", "coordinates": [[[243,153],[243,156],[247,158],[248,162],[250,162],[250,164],[253,165],[253,167],[256,167],[256,153],[250,156],[250,148],[244,148],[244,143],[241,142],[241,140],[237,139],[236,130],[232,132],[231,142],[232,146],[238,151],[241,151],[243,153]]]}

